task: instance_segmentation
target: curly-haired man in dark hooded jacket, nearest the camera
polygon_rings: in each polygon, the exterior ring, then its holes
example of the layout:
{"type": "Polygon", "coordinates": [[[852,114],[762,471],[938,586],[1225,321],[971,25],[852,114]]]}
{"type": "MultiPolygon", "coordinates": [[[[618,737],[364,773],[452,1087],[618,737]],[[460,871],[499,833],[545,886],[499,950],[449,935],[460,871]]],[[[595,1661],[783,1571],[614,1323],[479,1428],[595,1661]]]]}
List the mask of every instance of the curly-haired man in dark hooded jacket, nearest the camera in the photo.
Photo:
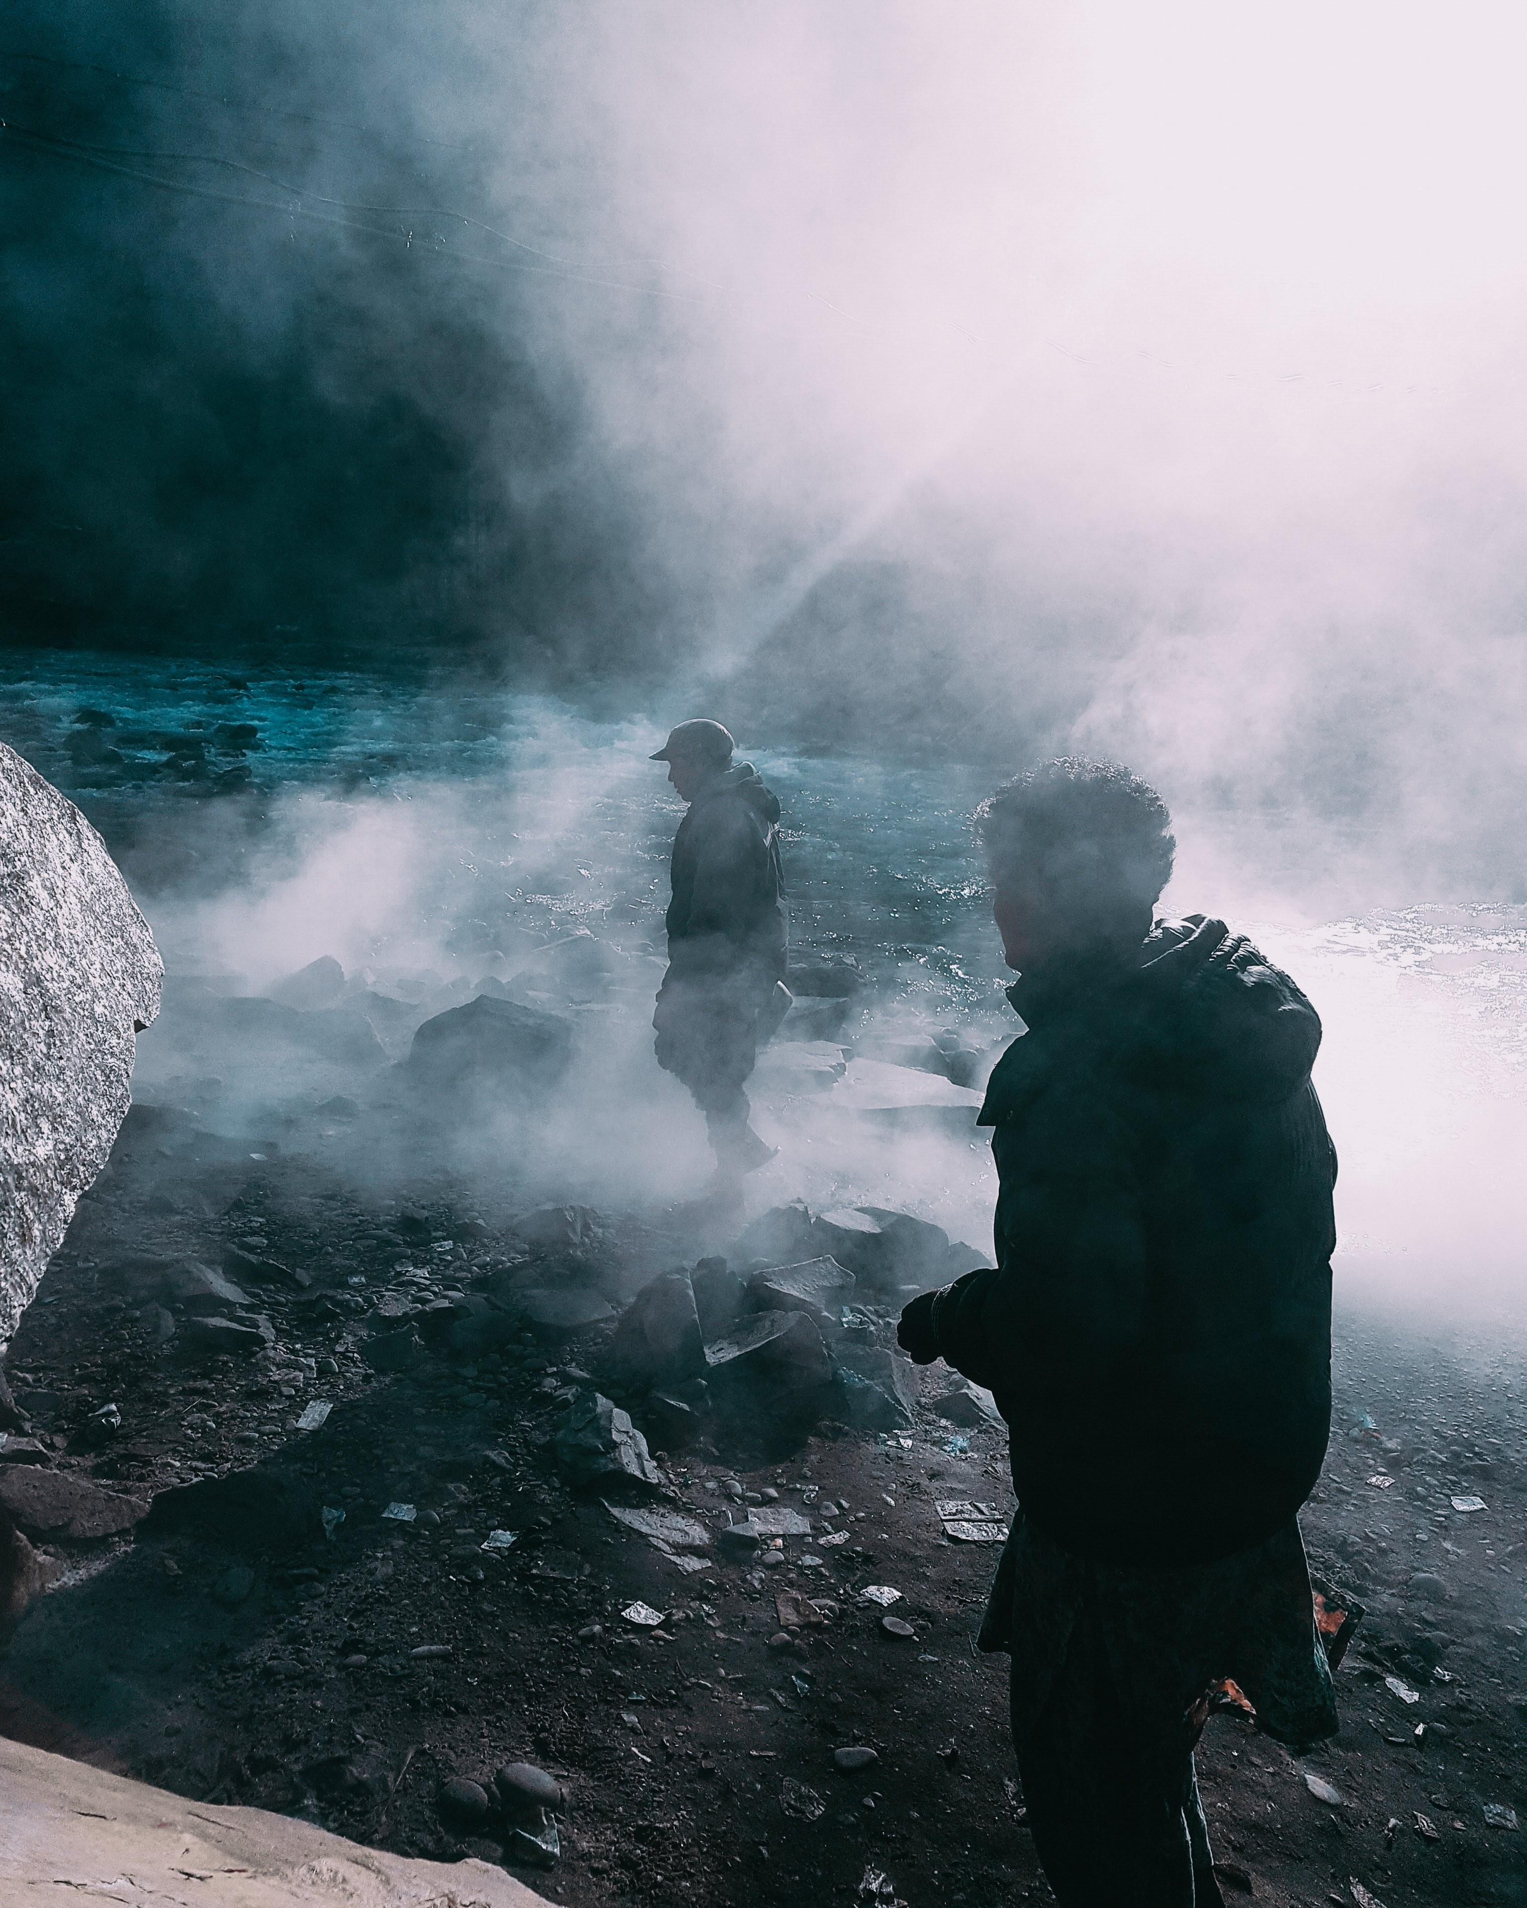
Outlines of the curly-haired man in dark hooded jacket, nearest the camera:
{"type": "Polygon", "coordinates": [[[977,830],[1025,1023],[981,1110],[996,1269],[914,1299],[899,1338],[1012,1429],[981,1643],[1014,1658],[1057,1900],[1203,1908],[1210,1690],[1285,1742],[1336,1729],[1296,1524],[1330,1423],[1321,1023],[1224,922],[1153,922],[1176,843],[1126,769],[1050,763],[977,830]]]}

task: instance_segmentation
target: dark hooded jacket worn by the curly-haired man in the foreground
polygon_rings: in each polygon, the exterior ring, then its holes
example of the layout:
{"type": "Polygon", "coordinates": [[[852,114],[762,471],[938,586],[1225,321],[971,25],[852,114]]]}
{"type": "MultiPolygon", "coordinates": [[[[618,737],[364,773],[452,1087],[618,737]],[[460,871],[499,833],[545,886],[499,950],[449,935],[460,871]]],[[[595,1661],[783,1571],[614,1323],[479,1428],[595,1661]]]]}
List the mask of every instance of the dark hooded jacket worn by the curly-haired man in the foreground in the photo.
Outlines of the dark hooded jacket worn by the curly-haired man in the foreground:
{"type": "Polygon", "coordinates": [[[1136,969],[1021,979],[981,1124],[996,1269],[933,1301],[1012,1427],[1025,1517],[1099,1563],[1210,1561],[1288,1523],[1330,1429],[1336,1154],[1315,1009],[1220,922],[1136,969]]]}

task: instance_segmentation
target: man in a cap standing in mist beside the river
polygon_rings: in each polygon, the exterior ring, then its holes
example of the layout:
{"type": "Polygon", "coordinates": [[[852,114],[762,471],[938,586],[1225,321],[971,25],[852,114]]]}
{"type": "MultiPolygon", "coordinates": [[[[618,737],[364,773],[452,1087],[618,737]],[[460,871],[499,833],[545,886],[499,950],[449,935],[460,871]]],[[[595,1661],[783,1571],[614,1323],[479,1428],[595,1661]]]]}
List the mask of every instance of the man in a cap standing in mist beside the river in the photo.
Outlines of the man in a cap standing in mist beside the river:
{"type": "Polygon", "coordinates": [[[775,1156],[748,1124],[743,1086],[790,1006],[779,801],[750,761],[733,763],[733,746],[718,721],[697,719],[653,756],[689,803],[674,838],[657,1063],[695,1095],[723,1183],[775,1156]]]}

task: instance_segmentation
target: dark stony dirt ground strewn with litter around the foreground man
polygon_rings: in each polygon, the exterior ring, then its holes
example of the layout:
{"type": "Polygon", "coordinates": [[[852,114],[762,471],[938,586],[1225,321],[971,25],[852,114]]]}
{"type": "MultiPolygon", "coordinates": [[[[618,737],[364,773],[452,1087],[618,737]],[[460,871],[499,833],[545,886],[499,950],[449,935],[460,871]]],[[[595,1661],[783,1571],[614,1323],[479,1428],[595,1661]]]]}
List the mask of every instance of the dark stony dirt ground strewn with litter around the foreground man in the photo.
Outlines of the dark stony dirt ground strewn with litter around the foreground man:
{"type": "MultiPolygon", "coordinates": [[[[718,1553],[683,1572],[554,1463],[552,1425],[601,1370],[607,1326],[487,1355],[426,1338],[384,1374],[359,1355],[359,1315],[382,1294],[491,1282],[521,1250],[510,1212],[445,1179],[361,1196],[300,1154],[166,1152],[141,1131],[118,1147],[10,1357],[31,1456],[141,1502],[244,1483],[214,1513],[157,1509],[132,1536],[48,1545],[63,1576],[0,1666],[0,1729],[437,1858],[504,1851],[491,1824],[443,1815],[441,1784],[533,1761],[565,1786],[561,1858],[504,1858],[578,1908],[1050,1898],[1014,1778],[1006,1658],[972,1641],[994,1549],[949,1542],[935,1511],[1010,1515],[1004,1435],[920,1410],[907,1433],[819,1425],[773,1448],[674,1450],[672,1507],[718,1524],[739,1492],[777,1492],[813,1524],[767,1568],[718,1553]],[[311,1282],[265,1273],[256,1294],[235,1273],[269,1322],[263,1349],[187,1360],[174,1305],[160,1347],[166,1317],[132,1255],[220,1267],[229,1248],[311,1282]],[[302,1431],[313,1400],[332,1410],[302,1431]],[[88,1429],[107,1402],[115,1437],[88,1429]],[[389,1504],[414,1521],[386,1519],[389,1504]],[[344,1511],[328,1536],[324,1509],[344,1511]],[[513,1545],[483,1549],[494,1530],[513,1545]],[[901,1597],[888,1612],[867,1586],[901,1597]],[[826,1620],[783,1641],[781,1595],[802,1614],[788,1593],[826,1620]],[[626,1620],[636,1601],[660,1626],[626,1620]],[[912,1633],[888,1633],[886,1614],[912,1633]],[[846,1746],[876,1759],[840,1773],[846,1746]],[[870,1872],[888,1877],[878,1893],[870,1872]]],[[[693,1213],[611,1215],[603,1238],[626,1290],[714,1250],[693,1213]]],[[[1290,1753],[1246,1719],[1208,1725],[1227,1900],[1527,1902],[1506,1813],[1527,1820],[1519,1351],[1344,1313],[1336,1389],[1304,1523],[1315,1568],[1369,1616],[1338,1673],[1336,1742],[1290,1753]],[[1485,1507],[1454,1507],[1474,1498],[1485,1507]]]]}

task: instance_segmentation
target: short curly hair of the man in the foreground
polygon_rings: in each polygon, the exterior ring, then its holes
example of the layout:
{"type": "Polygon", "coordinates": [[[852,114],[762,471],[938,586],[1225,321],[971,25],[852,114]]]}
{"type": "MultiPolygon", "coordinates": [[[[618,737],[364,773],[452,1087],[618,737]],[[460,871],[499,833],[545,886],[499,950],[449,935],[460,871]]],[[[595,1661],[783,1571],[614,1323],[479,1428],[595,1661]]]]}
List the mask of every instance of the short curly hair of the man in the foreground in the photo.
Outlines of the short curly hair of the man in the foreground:
{"type": "Polygon", "coordinates": [[[1166,803],[1117,761],[1063,756],[1025,769],[975,811],[975,840],[998,887],[1038,881],[1057,901],[1155,902],[1172,878],[1166,803]]]}

